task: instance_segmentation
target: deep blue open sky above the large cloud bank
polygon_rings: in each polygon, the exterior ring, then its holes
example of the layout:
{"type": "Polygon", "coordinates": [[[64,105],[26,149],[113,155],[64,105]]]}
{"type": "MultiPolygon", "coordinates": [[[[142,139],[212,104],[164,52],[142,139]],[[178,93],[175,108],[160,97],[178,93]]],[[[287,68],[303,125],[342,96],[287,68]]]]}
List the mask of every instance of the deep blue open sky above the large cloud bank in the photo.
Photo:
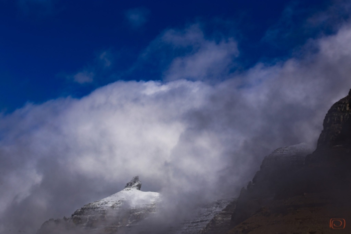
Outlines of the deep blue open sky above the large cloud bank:
{"type": "Polygon", "coordinates": [[[163,80],[174,56],[189,51],[154,52],[151,65],[138,62],[140,54],[165,30],[194,23],[201,24],[205,38],[237,41],[233,71],[260,61],[274,63],[307,39],[335,32],[330,19],[306,26],[308,18],[333,3],[1,0],[0,110],[9,113],[26,102],[82,97],[117,80],[163,80]],[[78,82],[72,78],[76,74],[78,82]]]}

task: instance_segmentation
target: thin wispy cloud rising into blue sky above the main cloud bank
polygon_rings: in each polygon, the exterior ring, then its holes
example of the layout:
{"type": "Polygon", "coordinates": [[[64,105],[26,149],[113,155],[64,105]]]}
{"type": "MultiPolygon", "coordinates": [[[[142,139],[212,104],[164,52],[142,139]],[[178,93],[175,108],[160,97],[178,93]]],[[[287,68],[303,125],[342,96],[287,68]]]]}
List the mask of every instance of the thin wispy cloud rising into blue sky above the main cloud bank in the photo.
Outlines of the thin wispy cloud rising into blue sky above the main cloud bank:
{"type": "Polygon", "coordinates": [[[239,52],[234,38],[206,38],[201,25],[193,24],[184,30],[165,31],[150,44],[141,57],[148,61],[154,59],[152,56],[167,57],[165,54],[178,56],[172,57],[168,69],[163,72],[163,80],[218,82],[226,79],[229,71],[235,68],[234,59],[239,52]]]}

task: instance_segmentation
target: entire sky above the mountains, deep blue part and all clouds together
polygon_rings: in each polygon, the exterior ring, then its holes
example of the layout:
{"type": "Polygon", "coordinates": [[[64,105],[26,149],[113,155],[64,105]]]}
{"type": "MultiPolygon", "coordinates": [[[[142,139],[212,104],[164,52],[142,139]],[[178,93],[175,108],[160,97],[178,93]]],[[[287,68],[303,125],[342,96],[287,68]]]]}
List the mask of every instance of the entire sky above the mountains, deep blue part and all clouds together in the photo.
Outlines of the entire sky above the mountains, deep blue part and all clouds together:
{"type": "Polygon", "coordinates": [[[349,93],[350,15],[350,0],[0,0],[0,233],[136,175],[174,220],[237,197],[276,148],[314,148],[349,93]]]}

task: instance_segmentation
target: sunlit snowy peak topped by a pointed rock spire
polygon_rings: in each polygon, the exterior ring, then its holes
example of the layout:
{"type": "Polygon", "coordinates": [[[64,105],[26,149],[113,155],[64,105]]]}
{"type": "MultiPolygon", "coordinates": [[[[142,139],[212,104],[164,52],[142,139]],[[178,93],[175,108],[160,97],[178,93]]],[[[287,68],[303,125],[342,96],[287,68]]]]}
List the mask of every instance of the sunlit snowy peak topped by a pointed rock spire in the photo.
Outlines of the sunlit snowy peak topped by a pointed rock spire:
{"type": "Polygon", "coordinates": [[[139,177],[135,176],[122,191],[83,206],[70,218],[45,222],[37,234],[126,232],[126,228],[155,213],[160,201],[159,193],[142,192],[140,188],[139,177]]]}

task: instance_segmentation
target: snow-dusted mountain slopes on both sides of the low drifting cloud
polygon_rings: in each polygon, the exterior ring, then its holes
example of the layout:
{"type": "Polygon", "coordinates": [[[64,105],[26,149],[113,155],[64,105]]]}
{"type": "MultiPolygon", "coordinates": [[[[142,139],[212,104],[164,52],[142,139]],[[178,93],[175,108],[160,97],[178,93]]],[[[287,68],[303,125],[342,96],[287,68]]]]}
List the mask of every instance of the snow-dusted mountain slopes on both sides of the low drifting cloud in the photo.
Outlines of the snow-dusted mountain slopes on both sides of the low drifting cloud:
{"type": "MultiPolygon", "coordinates": [[[[140,188],[141,182],[138,176],[135,176],[122,191],[84,205],[75,211],[72,217],[46,221],[37,234],[129,234],[135,231],[145,233],[147,223],[141,221],[146,221],[147,218],[151,218],[151,214],[156,214],[161,199],[159,193],[142,192],[140,188]]],[[[233,199],[211,202],[199,208],[193,218],[185,220],[166,233],[198,234],[210,221],[220,219],[222,222],[223,215],[217,219],[215,217],[223,213],[231,202],[233,199]]]]}

